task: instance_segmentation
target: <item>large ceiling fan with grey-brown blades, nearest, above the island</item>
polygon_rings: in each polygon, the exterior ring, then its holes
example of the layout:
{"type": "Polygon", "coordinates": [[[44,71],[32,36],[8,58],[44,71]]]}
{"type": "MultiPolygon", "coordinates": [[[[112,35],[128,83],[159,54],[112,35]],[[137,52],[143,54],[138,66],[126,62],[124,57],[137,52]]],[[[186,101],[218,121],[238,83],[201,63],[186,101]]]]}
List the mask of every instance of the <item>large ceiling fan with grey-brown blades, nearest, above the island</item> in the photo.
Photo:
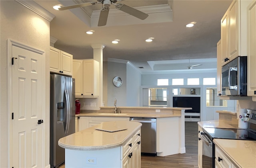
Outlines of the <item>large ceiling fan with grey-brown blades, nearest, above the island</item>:
{"type": "Polygon", "coordinates": [[[116,9],[121,10],[123,12],[126,12],[127,14],[130,14],[136,18],[139,18],[141,20],[144,20],[148,17],[148,14],[141,12],[139,10],[136,10],[135,8],[132,8],[128,5],[118,3],[116,4],[117,1],[122,1],[122,0],[97,0],[96,2],[86,2],[82,4],[76,4],[76,5],[71,5],[71,6],[61,6],[58,8],[58,10],[68,10],[68,9],[73,9],[73,8],[79,8],[79,7],[85,7],[85,6],[91,6],[95,4],[103,4],[103,7],[100,10],[100,18],[98,21],[98,26],[104,26],[107,23],[108,19],[108,12],[109,12],[109,7],[110,5],[116,6],[116,9]]]}

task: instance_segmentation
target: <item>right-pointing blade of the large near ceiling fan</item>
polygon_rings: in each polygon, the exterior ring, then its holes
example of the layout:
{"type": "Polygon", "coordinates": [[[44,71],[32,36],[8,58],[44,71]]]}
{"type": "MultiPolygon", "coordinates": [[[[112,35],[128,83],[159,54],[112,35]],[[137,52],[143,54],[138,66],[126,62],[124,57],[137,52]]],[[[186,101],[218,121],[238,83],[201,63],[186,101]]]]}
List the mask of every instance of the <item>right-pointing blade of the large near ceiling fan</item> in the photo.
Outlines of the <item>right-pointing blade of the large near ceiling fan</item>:
{"type": "Polygon", "coordinates": [[[136,18],[139,18],[141,20],[148,18],[148,14],[141,12],[139,10],[136,10],[135,8],[132,8],[132,7],[122,4],[122,3],[116,4],[116,9],[122,10],[123,12],[126,12],[127,14],[130,14],[130,15],[132,15],[136,18]]]}

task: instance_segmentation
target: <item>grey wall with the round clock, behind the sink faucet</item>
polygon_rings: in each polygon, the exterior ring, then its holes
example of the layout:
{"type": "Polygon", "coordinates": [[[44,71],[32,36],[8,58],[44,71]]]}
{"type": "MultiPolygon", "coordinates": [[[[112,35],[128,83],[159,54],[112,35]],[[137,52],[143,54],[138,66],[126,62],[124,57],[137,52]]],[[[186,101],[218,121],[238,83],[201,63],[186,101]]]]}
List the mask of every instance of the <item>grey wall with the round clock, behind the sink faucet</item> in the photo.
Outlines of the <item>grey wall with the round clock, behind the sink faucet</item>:
{"type": "Polygon", "coordinates": [[[141,74],[127,61],[104,61],[103,64],[103,102],[104,106],[140,106],[141,74]],[[122,86],[113,85],[113,78],[119,76],[122,86]]]}

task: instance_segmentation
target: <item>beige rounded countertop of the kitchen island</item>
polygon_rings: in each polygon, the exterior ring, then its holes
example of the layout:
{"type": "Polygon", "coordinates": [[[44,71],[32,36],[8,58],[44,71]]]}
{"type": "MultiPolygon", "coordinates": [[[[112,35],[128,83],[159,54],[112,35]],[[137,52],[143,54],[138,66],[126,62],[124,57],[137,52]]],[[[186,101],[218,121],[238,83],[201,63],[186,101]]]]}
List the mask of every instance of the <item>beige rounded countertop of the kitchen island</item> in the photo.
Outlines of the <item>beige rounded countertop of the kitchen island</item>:
{"type": "Polygon", "coordinates": [[[133,136],[133,133],[142,126],[134,121],[109,121],[100,123],[88,129],[68,135],[58,141],[62,148],[71,150],[103,150],[122,146],[126,140],[133,136]],[[116,132],[100,131],[97,129],[113,131],[116,129],[125,129],[116,132]]]}

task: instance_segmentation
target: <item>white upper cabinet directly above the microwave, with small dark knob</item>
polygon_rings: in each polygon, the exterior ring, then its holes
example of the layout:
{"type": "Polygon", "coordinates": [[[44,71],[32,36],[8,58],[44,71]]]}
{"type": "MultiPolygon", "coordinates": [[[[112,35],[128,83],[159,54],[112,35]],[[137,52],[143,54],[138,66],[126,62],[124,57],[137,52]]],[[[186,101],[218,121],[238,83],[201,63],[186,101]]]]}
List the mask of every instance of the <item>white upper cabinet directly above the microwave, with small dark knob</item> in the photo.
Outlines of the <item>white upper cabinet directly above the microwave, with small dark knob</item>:
{"type": "Polygon", "coordinates": [[[234,0],[221,20],[222,66],[238,56],[247,56],[247,14],[250,1],[234,0]]]}

